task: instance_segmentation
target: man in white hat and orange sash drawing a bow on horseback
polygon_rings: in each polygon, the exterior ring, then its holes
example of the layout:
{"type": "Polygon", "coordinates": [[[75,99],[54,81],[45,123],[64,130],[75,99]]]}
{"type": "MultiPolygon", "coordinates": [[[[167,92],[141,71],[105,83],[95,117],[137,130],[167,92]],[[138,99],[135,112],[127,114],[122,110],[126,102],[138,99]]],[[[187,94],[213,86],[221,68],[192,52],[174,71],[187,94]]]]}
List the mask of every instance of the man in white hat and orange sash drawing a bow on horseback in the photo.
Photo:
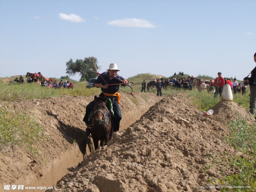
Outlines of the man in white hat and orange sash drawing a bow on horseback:
{"type": "MultiPolygon", "coordinates": [[[[116,77],[116,78],[122,80],[123,85],[126,86],[129,82],[126,79],[124,79],[123,77],[119,76],[117,74],[118,71],[120,71],[120,70],[118,70],[116,63],[111,63],[109,65],[109,69],[107,69],[107,71],[103,72],[102,74],[116,77]]],[[[120,111],[120,108],[118,105],[118,103],[120,103],[120,93],[118,93],[119,85],[111,85],[111,84],[120,83],[120,81],[118,79],[115,79],[115,78],[109,77],[109,76],[100,75],[94,81],[94,85],[95,85],[95,87],[101,88],[102,92],[100,93],[99,96],[108,97],[112,101],[114,116],[111,121],[111,123],[112,123],[112,130],[110,133],[110,138],[111,138],[111,135],[113,132],[119,131],[119,125],[120,125],[120,121],[122,119],[122,115],[121,115],[121,111],[120,111]]],[[[89,120],[88,120],[89,113],[92,111],[94,104],[95,104],[95,101],[93,100],[86,106],[86,114],[83,118],[83,121],[87,125],[87,128],[86,128],[87,136],[90,135],[89,120]]]]}

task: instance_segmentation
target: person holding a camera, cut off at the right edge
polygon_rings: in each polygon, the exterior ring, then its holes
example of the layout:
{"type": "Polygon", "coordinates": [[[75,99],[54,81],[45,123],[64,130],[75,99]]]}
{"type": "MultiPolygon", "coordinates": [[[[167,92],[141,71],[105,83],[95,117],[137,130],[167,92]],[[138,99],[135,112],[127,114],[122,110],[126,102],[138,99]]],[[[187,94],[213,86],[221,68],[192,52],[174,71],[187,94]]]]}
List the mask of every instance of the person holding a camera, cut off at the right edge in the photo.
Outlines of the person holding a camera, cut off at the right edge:
{"type": "MultiPolygon", "coordinates": [[[[254,54],[254,62],[256,63],[256,53],[254,54]]],[[[244,78],[245,82],[244,85],[249,84],[250,85],[250,110],[249,112],[252,114],[252,116],[255,116],[256,112],[256,67],[249,73],[247,77],[244,78]],[[251,77],[248,78],[248,76],[251,73],[251,77]]]]}

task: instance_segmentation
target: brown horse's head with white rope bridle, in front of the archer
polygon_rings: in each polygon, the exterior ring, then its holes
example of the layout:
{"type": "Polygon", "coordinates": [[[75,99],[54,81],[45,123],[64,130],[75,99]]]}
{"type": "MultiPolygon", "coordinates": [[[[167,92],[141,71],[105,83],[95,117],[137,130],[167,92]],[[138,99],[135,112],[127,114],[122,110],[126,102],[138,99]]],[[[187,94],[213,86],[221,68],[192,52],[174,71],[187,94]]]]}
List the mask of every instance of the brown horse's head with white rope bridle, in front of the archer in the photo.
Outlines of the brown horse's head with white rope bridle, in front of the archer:
{"type": "Polygon", "coordinates": [[[107,107],[106,102],[108,101],[107,97],[97,97],[94,96],[94,122],[97,125],[100,125],[102,121],[106,119],[107,107]]]}

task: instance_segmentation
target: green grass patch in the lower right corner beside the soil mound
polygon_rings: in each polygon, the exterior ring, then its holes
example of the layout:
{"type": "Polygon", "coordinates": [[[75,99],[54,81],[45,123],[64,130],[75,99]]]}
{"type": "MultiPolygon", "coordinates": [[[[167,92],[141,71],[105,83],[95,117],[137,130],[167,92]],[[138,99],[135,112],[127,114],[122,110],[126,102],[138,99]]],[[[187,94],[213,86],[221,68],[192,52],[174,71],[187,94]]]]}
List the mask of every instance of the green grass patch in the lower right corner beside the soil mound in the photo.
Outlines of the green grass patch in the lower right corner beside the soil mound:
{"type": "MultiPolygon", "coordinates": [[[[223,142],[245,154],[245,157],[237,156],[222,159],[220,164],[229,166],[229,169],[233,168],[235,173],[230,176],[223,176],[217,181],[210,180],[212,184],[250,186],[250,189],[236,188],[233,191],[256,191],[256,125],[249,126],[246,119],[246,117],[239,117],[239,114],[236,120],[231,119],[228,123],[230,134],[223,140],[223,142]]],[[[229,189],[221,191],[229,191],[229,189]]]]}

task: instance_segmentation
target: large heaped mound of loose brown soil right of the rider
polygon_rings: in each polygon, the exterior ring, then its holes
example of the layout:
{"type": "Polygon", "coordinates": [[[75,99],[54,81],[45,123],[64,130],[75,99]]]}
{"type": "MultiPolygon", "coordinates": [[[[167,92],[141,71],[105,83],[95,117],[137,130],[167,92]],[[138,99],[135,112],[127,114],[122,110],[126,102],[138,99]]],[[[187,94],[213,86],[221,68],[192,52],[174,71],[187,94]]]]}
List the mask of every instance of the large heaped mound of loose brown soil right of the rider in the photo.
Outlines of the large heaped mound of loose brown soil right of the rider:
{"type": "Polygon", "coordinates": [[[163,98],[52,191],[204,191],[200,185],[209,178],[234,173],[222,173],[217,163],[210,166],[213,159],[241,154],[221,142],[229,134],[223,123],[236,118],[234,111],[248,114],[233,102],[219,102],[211,109],[214,114],[203,117],[191,98],[163,98]]]}

